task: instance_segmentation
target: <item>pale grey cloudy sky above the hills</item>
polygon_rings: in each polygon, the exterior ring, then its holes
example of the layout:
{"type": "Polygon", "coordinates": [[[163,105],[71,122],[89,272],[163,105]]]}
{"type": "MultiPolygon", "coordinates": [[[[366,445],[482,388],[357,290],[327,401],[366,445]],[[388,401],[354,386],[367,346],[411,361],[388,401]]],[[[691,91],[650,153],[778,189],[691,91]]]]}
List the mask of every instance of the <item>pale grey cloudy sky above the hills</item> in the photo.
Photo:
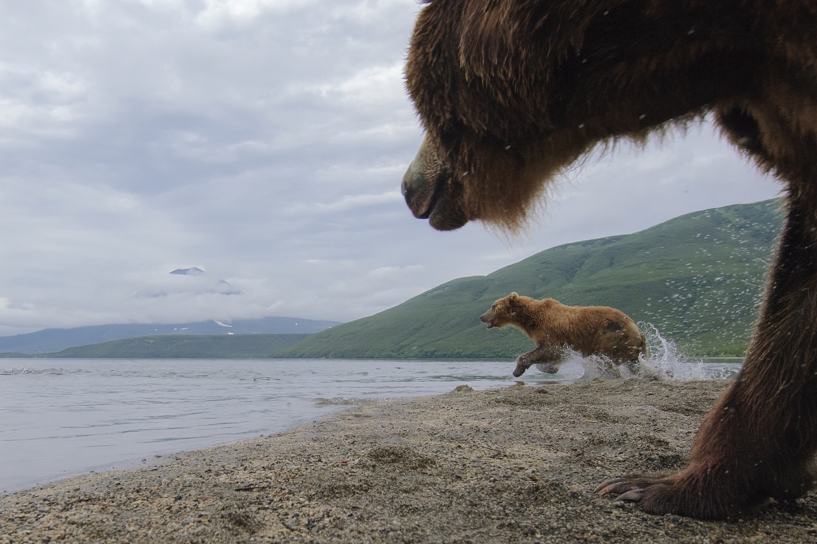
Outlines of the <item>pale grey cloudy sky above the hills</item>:
{"type": "Polygon", "coordinates": [[[0,3],[0,334],[346,321],[779,191],[704,125],[592,160],[526,237],[438,233],[400,196],[422,137],[402,80],[415,0],[0,3]],[[192,266],[243,295],[133,297],[192,266]]]}

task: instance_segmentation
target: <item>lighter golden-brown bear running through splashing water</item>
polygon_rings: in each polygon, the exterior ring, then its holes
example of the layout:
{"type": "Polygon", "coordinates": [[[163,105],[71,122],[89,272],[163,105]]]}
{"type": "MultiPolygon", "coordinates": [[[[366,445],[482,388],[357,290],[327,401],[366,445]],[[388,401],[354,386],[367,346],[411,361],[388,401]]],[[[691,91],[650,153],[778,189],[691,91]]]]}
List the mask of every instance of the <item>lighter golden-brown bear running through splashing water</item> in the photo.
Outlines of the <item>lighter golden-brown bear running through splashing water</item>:
{"type": "Polygon", "coordinates": [[[520,377],[532,365],[551,374],[565,362],[566,350],[585,357],[599,355],[615,365],[638,369],[638,356],[647,357],[647,341],[636,323],[609,306],[568,306],[546,298],[537,301],[512,292],[480,315],[488,328],[513,325],[536,343],[536,349],[516,359],[513,375],[520,377]]]}

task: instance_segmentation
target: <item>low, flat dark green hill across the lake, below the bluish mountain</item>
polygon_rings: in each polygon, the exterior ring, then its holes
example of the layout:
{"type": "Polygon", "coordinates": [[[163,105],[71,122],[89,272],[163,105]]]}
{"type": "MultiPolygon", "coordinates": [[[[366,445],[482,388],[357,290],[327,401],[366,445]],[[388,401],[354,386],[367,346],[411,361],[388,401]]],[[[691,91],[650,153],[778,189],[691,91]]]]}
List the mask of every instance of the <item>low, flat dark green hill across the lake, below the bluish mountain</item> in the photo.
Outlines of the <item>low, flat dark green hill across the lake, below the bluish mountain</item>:
{"type": "Polygon", "coordinates": [[[122,338],[36,355],[2,353],[0,357],[72,359],[267,359],[310,334],[174,334],[122,338]]]}

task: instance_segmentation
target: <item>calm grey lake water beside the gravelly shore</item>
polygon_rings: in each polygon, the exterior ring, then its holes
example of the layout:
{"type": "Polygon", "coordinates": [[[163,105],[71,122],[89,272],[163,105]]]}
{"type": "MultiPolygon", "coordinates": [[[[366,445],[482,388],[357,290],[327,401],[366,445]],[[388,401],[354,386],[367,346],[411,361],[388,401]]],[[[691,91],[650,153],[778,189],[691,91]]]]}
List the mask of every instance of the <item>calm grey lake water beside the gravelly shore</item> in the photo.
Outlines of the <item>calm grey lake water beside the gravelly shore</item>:
{"type": "MultiPolygon", "coordinates": [[[[528,385],[592,376],[577,359],[528,385]]],[[[655,363],[670,379],[734,361],[655,363]]],[[[350,404],[511,386],[514,363],[305,359],[0,359],[0,492],[268,435],[350,404]]]]}

